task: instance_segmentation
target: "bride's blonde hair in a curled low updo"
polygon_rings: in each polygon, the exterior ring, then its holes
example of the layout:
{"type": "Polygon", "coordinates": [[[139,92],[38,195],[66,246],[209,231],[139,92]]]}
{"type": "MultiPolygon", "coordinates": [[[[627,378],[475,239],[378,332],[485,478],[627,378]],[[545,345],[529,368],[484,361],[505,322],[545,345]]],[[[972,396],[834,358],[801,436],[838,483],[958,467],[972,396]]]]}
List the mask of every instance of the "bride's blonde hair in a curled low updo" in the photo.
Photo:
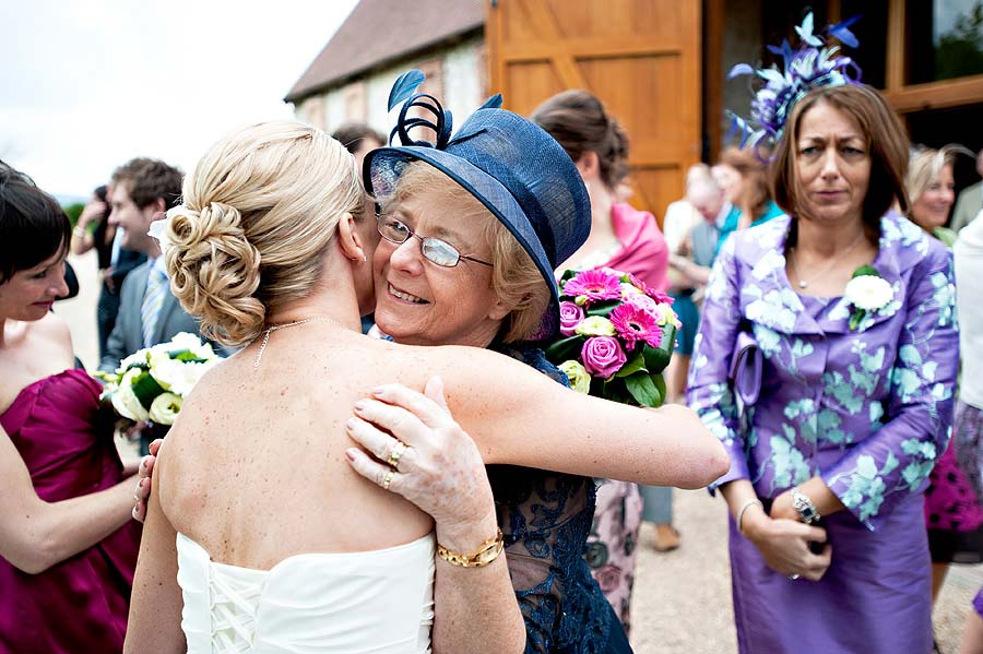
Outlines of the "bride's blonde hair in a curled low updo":
{"type": "Polygon", "coordinates": [[[225,345],[256,338],[271,312],[307,297],[362,187],[337,141],[297,122],[262,122],[209,150],[167,215],[170,288],[225,345]]]}

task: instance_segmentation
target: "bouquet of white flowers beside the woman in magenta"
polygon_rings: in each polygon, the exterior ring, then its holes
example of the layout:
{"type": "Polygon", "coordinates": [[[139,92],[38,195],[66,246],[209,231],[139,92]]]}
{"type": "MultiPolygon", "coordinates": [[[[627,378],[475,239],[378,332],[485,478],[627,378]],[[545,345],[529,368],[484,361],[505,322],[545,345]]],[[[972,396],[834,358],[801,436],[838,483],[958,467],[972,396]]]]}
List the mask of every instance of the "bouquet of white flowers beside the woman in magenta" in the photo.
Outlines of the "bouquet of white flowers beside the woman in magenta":
{"type": "Polygon", "coordinates": [[[123,418],[174,425],[191,389],[221,359],[210,343],[181,332],[131,354],[114,374],[98,372],[106,382],[100,399],[123,418]]]}

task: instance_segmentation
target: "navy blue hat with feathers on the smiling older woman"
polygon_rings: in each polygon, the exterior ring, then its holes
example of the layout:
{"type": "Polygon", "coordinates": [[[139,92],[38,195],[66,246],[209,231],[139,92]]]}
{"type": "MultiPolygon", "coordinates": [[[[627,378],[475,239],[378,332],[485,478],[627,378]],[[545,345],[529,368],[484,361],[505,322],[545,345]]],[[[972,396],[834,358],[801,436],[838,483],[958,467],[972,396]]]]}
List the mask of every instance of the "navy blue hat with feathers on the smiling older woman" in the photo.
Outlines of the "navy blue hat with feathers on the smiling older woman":
{"type": "Polygon", "coordinates": [[[508,228],[540,270],[552,301],[536,337],[553,335],[559,325],[554,270],[591,229],[591,203],[577,166],[542,128],[499,108],[500,95],[475,110],[451,138],[451,112],[435,97],[416,93],[423,81],[421,71],[410,71],[393,85],[389,108],[402,108],[390,146],[365,157],[366,190],[374,197],[394,194],[406,165],[415,160],[459,183],[508,228]],[[414,107],[433,120],[411,117],[414,107]],[[410,131],[421,127],[430,128],[436,142],[413,140],[410,131]]]}

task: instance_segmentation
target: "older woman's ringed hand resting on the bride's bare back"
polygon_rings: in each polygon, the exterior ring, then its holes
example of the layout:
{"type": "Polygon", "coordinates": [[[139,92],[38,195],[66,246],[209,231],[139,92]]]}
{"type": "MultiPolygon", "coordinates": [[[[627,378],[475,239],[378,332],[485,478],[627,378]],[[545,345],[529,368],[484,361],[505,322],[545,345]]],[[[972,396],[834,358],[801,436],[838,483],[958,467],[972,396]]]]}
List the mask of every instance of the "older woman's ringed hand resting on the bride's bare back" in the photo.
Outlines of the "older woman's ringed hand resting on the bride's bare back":
{"type": "Polygon", "coordinates": [[[439,378],[424,393],[400,384],[376,389],[356,403],[347,431],[364,448],[345,452],[352,467],[429,513],[441,544],[488,537],[495,503],[485,464],[451,416],[439,378]]]}

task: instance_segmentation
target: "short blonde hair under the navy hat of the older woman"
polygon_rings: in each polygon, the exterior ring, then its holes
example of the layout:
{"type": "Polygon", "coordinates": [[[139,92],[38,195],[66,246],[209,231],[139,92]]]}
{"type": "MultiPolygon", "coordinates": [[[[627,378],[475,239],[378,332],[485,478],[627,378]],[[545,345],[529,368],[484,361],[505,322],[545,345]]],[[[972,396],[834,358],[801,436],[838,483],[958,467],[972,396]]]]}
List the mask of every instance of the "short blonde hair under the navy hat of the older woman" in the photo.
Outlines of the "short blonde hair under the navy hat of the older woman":
{"type": "MultiPolygon", "coordinates": [[[[433,166],[413,162],[400,175],[394,194],[376,200],[387,212],[407,198],[435,192],[441,193],[454,207],[454,219],[482,224],[482,238],[492,249],[492,293],[506,306],[513,307],[499,332],[502,341],[529,338],[537,331],[549,306],[549,288],[529,252],[477,198],[433,166]]],[[[458,265],[467,264],[462,261],[458,265]]]]}

